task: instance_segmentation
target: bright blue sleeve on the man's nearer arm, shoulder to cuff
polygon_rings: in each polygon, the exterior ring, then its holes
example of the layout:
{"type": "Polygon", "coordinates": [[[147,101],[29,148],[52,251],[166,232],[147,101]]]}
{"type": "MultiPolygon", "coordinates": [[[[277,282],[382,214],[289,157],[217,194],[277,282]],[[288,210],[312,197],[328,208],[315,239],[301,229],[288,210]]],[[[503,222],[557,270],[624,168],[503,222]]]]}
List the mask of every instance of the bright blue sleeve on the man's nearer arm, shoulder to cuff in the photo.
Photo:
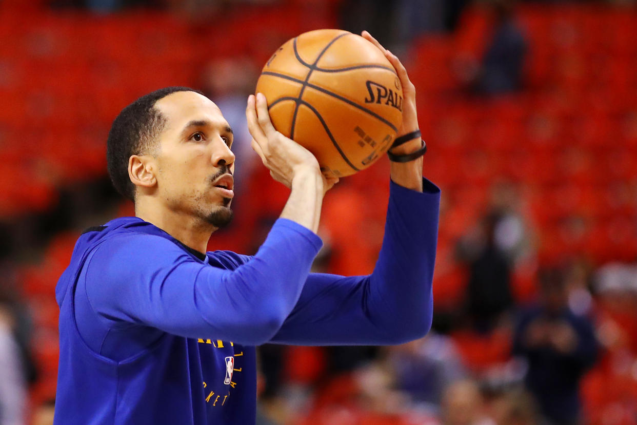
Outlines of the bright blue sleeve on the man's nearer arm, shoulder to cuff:
{"type": "Polygon", "coordinates": [[[92,310],[112,327],[138,324],[258,345],[296,304],[320,245],[308,229],[279,219],[254,257],[224,270],[166,238],[130,232],[96,249],[82,287],[92,310]]]}

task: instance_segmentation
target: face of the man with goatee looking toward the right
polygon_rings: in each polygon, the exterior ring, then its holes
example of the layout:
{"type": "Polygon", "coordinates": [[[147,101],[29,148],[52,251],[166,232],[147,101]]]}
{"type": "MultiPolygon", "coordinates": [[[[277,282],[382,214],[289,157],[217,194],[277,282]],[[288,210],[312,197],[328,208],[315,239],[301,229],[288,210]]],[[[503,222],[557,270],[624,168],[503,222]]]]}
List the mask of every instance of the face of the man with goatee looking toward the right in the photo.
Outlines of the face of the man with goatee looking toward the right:
{"type": "Polygon", "coordinates": [[[233,133],[221,111],[196,92],[175,92],[155,108],[166,119],[159,136],[157,196],[170,210],[215,227],[232,219],[233,133]]]}

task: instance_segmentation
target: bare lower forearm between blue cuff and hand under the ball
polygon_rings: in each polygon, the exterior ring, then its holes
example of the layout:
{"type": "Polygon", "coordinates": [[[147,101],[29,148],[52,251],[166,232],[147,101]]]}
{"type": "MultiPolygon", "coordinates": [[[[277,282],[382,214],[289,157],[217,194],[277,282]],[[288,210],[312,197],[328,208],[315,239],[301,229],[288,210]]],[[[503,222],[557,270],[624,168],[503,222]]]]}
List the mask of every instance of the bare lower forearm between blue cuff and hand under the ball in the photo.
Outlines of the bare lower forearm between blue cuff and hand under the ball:
{"type": "Polygon", "coordinates": [[[323,203],[324,182],[318,171],[303,170],[292,179],[292,191],[280,217],[318,231],[323,203]]]}

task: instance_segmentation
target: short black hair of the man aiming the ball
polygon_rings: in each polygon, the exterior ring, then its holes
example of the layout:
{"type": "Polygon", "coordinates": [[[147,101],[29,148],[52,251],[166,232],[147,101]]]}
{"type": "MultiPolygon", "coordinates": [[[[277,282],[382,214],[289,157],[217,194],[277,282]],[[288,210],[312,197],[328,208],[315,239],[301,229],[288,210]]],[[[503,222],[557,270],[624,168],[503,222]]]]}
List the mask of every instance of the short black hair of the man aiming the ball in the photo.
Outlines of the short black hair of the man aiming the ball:
{"type": "Polygon", "coordinates": [[[175,92],[196,92],[190,87],[165,87],[145,94],[126,106],[113,121],[106,141],[106,168],[113,186],[120,194],[134,201],[135,185],[128,175],[131,155],[147,153],[166,124],[166,117],[155,103],[175,92]]]}

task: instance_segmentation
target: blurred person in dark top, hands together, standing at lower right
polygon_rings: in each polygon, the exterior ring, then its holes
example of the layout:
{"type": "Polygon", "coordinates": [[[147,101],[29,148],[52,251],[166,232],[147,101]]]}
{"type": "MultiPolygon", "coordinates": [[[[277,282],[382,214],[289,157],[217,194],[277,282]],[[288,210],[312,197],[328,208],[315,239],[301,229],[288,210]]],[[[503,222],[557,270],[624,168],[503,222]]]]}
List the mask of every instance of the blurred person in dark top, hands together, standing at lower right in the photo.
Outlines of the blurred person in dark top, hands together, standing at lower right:
{"type": "Polygon", "coordinates": [[[540,274],[541,303],[520,315],[513,355],[528,362],[525,382],[553,424],[577,424],[580,380],[596,361],[598,342],[590,319],[568,308],[561,270],[540,274]]]}

